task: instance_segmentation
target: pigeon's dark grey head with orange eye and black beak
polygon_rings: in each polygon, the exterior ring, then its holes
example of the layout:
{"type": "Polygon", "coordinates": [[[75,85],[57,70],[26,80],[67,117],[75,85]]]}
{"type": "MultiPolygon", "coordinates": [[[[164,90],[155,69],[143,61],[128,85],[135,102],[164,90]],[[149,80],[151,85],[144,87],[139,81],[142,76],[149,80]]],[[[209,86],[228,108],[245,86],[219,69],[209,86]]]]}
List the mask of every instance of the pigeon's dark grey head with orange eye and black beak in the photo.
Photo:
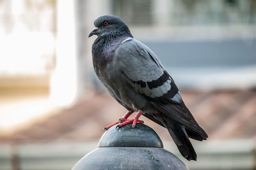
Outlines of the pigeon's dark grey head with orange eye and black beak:
{"type": "Polygon", "coordinates": [[[114,15],[104,15],[97,18],[94,21],[95,29],[90,32],[89,37],[93,35],[104,36],[104,35],[113,35],[113,36],[129,36],[132,37],[132,34],[124,23],[124,21],[114,15]]]}

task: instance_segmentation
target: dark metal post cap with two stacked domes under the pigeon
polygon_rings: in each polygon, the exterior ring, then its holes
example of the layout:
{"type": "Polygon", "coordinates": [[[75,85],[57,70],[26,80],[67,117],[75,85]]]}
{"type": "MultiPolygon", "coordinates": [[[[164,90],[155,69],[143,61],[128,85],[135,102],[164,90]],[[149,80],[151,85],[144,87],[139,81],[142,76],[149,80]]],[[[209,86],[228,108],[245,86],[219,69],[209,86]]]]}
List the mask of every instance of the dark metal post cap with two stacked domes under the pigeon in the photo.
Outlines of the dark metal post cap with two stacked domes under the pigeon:
{"type": "Polygon", "coordinates": [[[99,148],[86,154],[72,170],[81,169],[177,169],[188,167],[173,153],[164,150],[156,132],[143,124],[104,132],[99,148]]]}

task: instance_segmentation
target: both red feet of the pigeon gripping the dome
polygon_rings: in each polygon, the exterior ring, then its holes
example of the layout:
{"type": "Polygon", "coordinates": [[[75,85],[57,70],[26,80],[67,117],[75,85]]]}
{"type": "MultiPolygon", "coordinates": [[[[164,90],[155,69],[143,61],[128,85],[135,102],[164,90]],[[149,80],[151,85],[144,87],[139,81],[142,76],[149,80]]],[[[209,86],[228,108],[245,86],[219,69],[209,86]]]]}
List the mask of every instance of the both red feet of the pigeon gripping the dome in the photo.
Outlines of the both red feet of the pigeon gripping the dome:
{"type": "Polygon", "coordinates": [[[122,127],[124,125],[131,124],[131,123],[132,123],[132,127],[135,127],[137,122],[139,122],[140,124],[144,124],[143,120],[139,120],[139,117],[142,114],[141,111],[138,111],[138,113],[135,115],[134,118],[127,119],[133,112],[134,112],[133,110],[128,111],[127,113],[125,113],[124,117],[122,117],[118,120],[118,122],[115,122],[115,123],[109,125],[108,127],[104,127],[104,130],[108,130],[110,127],[112,127],[113,125],[116,125],[116,124],[119,124],[117,127],[122,127]]]}

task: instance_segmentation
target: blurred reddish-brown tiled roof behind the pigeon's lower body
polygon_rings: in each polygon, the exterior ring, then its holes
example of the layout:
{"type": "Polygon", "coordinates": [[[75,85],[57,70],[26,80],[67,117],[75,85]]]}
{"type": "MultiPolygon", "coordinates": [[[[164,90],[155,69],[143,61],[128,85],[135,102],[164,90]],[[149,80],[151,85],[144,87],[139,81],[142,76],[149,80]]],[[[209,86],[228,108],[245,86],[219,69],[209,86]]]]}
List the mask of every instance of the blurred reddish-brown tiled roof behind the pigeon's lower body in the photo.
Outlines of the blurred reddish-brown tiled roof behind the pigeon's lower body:
{"type": "MultiPolygon", "coordinates": [[[[256,90],[186,90],[181,93],[209,139],[256,137],[256,90]]],[[[103,128],[117,121],[125,111],[108,94],[94,94],[8,136],[0,134],[0,141],[97,140],[103,128]]],[[[166,129],[145,117],[142,120],[162,139],[170,139],[166,129]]]]}

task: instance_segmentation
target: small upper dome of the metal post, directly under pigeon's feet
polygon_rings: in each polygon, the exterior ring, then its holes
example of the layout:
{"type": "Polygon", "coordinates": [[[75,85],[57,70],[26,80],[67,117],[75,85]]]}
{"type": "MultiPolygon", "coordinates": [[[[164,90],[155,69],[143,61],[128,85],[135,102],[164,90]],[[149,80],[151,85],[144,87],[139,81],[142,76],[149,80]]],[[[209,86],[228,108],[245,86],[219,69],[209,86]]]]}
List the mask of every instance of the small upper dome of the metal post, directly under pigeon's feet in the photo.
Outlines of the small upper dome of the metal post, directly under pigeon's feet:
{"type": "Polygon", "coordinates": [[[123,127],[117,125],[104,132],[99,141],[99,147],[151,147],[163,148],[163,143],[157,133],[147,125],[132,124],[123,127]]]}

